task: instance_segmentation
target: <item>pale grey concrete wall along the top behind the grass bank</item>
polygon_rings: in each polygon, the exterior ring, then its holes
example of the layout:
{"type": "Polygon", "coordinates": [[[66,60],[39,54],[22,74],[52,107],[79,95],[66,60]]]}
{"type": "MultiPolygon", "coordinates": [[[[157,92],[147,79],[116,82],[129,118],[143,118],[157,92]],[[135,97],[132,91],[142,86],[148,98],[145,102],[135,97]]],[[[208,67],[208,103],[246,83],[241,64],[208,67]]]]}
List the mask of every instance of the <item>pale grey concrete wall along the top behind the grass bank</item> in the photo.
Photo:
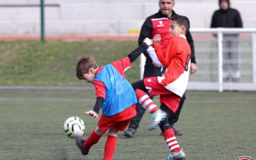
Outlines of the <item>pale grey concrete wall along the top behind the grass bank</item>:
{"type": "MultiPolygon", "coordinates": [[[[175,0],[175,12],[186,15],[191,28],[209,28],[218,0],[175,0]]],[[[39,0],[0,0],[0,35],[38,35],[39,0]],[[36,5],[37,4],[37,5],[36,5]]],[[[256,1],[231,0],[245,28],[256,28],[256,1]]],[[[45,0],[47,35],[116,35],[140,29],[159,9],[157,0],[45,0]]]]}

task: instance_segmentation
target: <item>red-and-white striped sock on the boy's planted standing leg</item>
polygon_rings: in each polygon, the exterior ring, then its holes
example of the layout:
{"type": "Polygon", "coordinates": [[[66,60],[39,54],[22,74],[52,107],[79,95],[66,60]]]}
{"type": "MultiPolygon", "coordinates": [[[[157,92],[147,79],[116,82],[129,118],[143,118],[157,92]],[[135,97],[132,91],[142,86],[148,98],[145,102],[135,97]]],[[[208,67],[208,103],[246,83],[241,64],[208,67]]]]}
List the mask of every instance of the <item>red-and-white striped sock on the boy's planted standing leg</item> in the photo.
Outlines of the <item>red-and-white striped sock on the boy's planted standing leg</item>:
{"type": "Polygon", "coordinates": [[[180,152],[180,146],[176,140],[176,137],[172,128],[164,131],[163,136],[171,152],[180,152]]]}

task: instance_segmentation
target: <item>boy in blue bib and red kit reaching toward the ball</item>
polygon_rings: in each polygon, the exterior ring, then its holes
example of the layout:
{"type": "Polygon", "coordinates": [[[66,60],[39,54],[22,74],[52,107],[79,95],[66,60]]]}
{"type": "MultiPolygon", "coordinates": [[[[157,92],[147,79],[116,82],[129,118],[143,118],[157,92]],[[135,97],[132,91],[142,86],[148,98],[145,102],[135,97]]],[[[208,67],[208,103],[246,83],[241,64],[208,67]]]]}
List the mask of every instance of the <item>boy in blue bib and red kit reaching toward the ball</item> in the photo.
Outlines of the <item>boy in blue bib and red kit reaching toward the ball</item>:
{"type": "Polygon", "coordinates": [[[100,108],[102,109],[97,127],[88,138],[85,141],[80,137],[76,138],[77,147],[83,155],[87,155],[92,145],[108,131],[103,159],[112,159],[118,131],[124,131],[131,118],[136,116],[136,94],[131,84],[125,79],[124,72],[131,67],[131,62],[136,60],[141,52],[148,49],[150,43],[151,40],[146,38],[137,49],[122,60],[102,67],[98,67],[92,57],[82,56],[77,62],[77,78],[93,83],[97,98],[94,108],[84,114],[97,118],[100,108]]]}

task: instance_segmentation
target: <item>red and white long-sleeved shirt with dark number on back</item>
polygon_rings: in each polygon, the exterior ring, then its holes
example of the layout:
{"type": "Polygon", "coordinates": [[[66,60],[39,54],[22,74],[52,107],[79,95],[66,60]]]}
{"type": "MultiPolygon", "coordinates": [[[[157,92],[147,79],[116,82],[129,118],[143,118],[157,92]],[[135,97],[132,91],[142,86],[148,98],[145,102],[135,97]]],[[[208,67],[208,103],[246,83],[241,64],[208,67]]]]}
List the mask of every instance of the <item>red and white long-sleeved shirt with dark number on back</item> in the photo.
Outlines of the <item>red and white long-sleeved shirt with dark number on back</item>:
{"type": "Polygon", "coordinates": [[[160,44],[154,44],[154,49],[159,61],[167,67],[164,76],[158,77],[159,83],[182,97],[188,85],[191,58],[186,36],[171,36],[164,50],[160,44]]]}

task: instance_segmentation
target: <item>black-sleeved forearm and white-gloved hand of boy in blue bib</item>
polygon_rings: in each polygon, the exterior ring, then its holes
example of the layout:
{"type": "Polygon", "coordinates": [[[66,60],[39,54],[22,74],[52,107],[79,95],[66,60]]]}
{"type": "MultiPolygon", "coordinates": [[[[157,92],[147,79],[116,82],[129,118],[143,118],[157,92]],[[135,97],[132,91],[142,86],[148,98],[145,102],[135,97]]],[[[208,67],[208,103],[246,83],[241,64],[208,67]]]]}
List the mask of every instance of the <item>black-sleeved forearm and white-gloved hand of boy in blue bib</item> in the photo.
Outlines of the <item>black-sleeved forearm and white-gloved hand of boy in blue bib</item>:
{"type": "Polygon", "coordinates": [[[134,49],[130,54],[128,54],[131,63],[135,61],[142,52],[146,51],[150,45],[152,45],[152,41],[149,38],[145,38],[138,48],[134,49]]]}

